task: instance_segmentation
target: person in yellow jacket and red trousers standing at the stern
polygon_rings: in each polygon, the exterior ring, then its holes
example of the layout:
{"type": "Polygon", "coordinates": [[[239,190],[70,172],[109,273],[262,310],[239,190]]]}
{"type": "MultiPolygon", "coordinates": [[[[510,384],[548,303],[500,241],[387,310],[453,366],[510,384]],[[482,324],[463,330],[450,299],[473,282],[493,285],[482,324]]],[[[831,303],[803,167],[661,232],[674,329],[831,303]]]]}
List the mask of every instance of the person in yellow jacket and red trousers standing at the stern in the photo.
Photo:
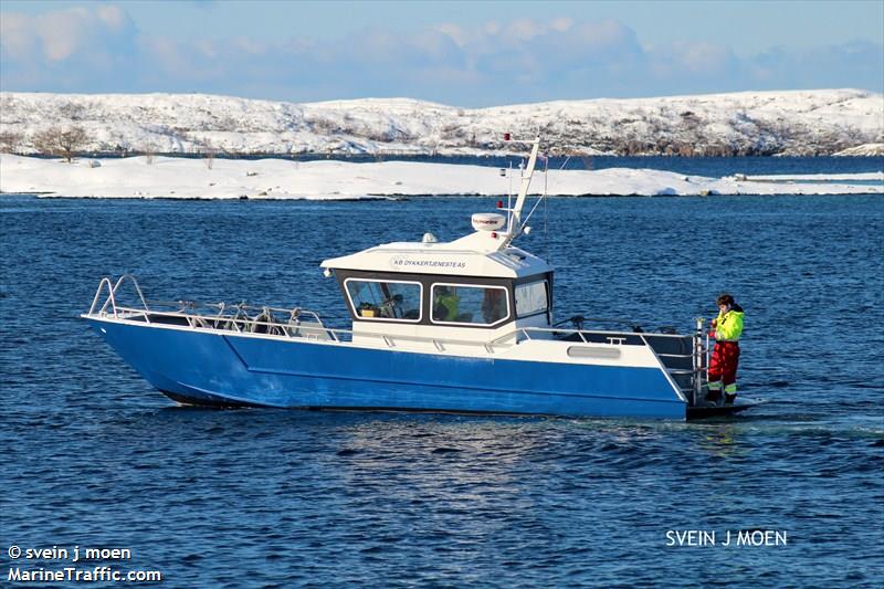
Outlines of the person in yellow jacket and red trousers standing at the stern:
{"type": "Polygon", "coordinates": [[[725,404],[734,404],[737,398],[737,365],[739,364],[739,337],[743,335],[743,307],[725,293],[716,301],[718,317],[712,320],[715,348],[709,361],[709,392],[706,400],[718,403],[724,388],[725,404]]]}

